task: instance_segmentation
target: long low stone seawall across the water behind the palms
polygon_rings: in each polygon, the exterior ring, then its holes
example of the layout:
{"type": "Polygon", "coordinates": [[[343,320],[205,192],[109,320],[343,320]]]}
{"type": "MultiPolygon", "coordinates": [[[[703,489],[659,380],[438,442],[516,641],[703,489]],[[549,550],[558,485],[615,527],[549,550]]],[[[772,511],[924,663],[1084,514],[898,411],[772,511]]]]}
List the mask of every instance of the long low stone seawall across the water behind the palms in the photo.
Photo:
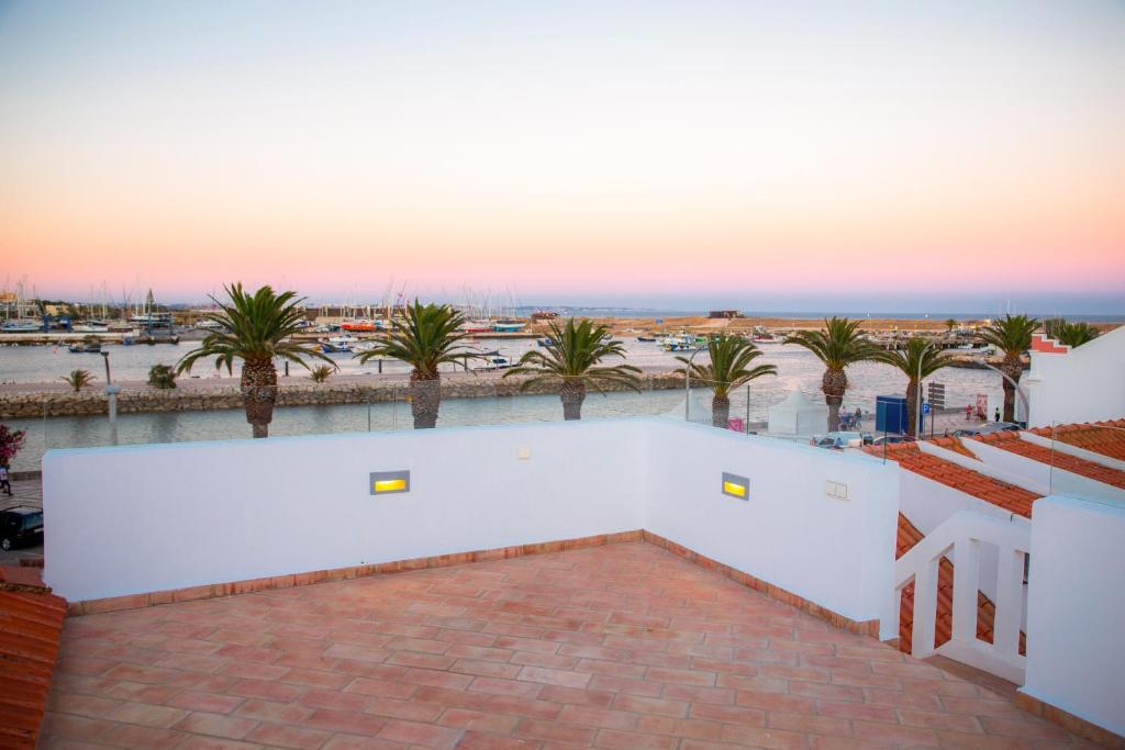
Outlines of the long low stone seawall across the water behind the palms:
{"type": "MultiPolygon", "coordinates": [[[[555,394],[557,387],[539,385],[526,391],[520,386],[525,378],[466,378],[442,379],[442,398],[487,398],[524,394],[555,394]]],[[[645,378],[641,386],[649,390],[683,388],[683,376],[662,372],[645,378]]],[[[627,390],[608,386],[603,390],[627,390]]],[[[328,404],[367,404],[405,400],[410,383],[405,380],[372,380],[371,382],[326,382],[281,385],[278,406],[317,406],[328,404]]],[[[108,412],[106,394],[100,389],[81,394],[60,390],[0,394],[0,419],[36,419],[42,417],[97,416],[108,412]]],[[[242,394],[237,386],[190,386],[158,390],[155,388],[123,387],[117,396],[119,414],[158,412],[206,412],[212,409],[241,409],[242,394]]]]}

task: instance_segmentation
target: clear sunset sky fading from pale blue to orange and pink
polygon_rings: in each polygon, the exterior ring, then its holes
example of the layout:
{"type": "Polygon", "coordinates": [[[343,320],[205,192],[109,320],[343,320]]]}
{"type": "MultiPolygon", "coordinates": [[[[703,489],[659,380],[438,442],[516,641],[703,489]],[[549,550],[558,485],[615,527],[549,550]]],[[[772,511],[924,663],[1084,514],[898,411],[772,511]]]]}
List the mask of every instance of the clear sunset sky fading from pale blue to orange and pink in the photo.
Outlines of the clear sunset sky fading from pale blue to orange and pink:
{"type": "Polygon", "coordinates": [[[1125,3],[2,2],[0,281],[1125,314],[1125,3]]]}

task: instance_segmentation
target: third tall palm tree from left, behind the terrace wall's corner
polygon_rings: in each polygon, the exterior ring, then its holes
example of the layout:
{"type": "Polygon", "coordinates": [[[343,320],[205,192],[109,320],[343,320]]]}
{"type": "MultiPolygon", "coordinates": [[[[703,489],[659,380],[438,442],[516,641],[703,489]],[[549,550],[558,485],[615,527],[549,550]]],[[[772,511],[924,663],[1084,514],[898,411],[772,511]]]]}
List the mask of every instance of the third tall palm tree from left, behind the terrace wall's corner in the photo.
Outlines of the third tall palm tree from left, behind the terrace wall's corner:
{"type": "Polygon", "coordinates": [[[532,376],[523,381],[520,390],[542,382],[559,383],[564,419],[582,418],[587,383],[598,392],[602,392],[603,385],[620,385],[640,391],[636,374],[640,372],[639,368],[631,364],[600,365],[609,356],[626,355],[621,342],[612,340],[609,326],[594,325],[591,320],[575,323],[574,318],[568,319],[565,326],[551,322],[549,338],[551,344],[544,347],[546,351],[525,353],[504,377],[532,376]]]}

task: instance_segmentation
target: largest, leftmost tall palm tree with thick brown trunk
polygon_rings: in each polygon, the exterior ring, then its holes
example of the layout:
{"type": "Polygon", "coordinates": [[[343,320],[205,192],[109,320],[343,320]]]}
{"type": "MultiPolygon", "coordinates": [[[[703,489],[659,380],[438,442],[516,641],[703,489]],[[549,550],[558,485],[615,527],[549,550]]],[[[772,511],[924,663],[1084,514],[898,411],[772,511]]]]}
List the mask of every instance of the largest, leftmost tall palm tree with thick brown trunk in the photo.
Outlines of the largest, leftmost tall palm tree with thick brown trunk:
{"type": "Polygon", "coordinates": [[[219,309],[204,315],[205,319],[215,324],[215,328],[204,337],[198,349],[180,359],[176,369],[178,373],[190,372],[198,360],[214,356],[215,369],[225,364],[231,373],[234,361],[242,360],[240,385],[246,422],[253,428],[254,437],[267,437],[278,397],[278,371],[273,367],[273,358],[296,362],[306,370],[308,363],[305,358],[324,360],[333,368],[336,363],[320,350],[292,338],[305,318],[300,308],[305,300],[297,299],[297,292],[284,291],[279,295],[267,286],[250,293],[243,290],[242,282],[223,289],[230,301],[220,302],[212,297],[219,309]]]}

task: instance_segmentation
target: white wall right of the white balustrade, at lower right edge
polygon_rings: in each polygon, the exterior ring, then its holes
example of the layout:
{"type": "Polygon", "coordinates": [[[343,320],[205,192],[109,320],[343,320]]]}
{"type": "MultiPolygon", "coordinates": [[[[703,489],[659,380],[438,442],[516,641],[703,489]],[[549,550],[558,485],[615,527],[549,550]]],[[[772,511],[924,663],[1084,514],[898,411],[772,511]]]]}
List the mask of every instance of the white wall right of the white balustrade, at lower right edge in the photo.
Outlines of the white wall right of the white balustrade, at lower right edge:
{"type": "Polygon", "coordinates": [[[1125,734],[1125,508],[1052,496],[1032,519],[1020,689],[1125,734]]]}

